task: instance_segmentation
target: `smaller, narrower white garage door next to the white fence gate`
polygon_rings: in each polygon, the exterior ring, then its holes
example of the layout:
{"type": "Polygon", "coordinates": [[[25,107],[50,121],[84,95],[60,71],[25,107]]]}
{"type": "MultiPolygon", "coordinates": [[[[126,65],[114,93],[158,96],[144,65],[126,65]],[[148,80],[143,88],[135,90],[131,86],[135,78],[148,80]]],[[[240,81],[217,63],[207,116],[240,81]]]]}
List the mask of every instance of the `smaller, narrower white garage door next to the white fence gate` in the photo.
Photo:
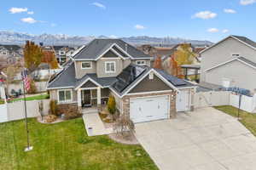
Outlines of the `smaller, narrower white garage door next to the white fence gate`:
{"type": "Polygon", "coordinates": [[[190,110],[190,93],[189,91],[180,91],[176,97],[176,111],[190,110]]]}

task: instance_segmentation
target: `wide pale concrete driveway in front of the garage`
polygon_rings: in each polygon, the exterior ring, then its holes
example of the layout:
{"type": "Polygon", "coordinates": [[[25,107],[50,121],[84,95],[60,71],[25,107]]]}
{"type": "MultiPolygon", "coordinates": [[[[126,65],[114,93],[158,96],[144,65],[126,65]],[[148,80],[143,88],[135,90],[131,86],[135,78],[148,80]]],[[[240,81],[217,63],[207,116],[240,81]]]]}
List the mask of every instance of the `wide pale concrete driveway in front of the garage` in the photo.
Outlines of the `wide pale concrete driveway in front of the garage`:
{"type": "Polygon", "coordinates": [[[161,170],[255,170],[256,138],[213,108],[136,124],[138,141],[161,170]]]}

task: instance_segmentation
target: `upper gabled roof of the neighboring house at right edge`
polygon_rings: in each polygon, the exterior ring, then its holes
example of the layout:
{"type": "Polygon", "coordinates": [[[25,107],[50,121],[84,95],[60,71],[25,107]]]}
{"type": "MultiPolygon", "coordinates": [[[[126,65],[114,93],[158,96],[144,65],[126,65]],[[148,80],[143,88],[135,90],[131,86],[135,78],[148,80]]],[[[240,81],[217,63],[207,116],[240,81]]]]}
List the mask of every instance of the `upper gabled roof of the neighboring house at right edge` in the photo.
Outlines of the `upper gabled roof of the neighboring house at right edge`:
{"type": "Polygon", "coordinates": [[[250,40],[250,39],[247,38],[247,37],[241,37],[241,36],[234,36],[234,35],[231,35],[231,36],[229,36],[229,37],[225,37],[223,40],[221,40],[221,41],[219,41],[219,42],[217,42],[217,43],[214,43],[212,46],[210,46],[210,47],[208,47],[208,48],[205,48],[204,50],[202,50],[202,51],[200,52],[200,54],[206,52],[206,51],[207,51],[208,49],[210,49],[210,48],[213,48],[213,47],[217,46],[219,43],[224,42],[225,40],[227,40],[227,39],[230,38],[230,37],[232,37],[232,38],[236,39],[237,41],[242,42],[243,44],[247,45],[248,47],[253,48],[253,49],[256,50],[256,42],[253,42],[253,40],[250,40]]]}

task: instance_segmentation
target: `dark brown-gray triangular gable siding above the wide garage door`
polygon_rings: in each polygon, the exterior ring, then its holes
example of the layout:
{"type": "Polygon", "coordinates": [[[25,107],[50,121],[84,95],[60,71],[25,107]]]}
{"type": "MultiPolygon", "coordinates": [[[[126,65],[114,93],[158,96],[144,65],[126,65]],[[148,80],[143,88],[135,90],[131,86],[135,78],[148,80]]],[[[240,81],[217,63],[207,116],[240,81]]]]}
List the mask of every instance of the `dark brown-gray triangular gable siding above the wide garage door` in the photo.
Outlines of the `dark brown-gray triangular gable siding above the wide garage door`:
{"type": "Polygon", "coordinates": [[[154,75],[154,79],[150,80],[147,77],[143,79],[142,82],[139,82],[137,86],[129,92],[132,93],[143,93],[143,92],[151,92],[151,91],[162,91],[162,90],[171,90],[165,82],[163,82],[159,77],[154,75]]]}

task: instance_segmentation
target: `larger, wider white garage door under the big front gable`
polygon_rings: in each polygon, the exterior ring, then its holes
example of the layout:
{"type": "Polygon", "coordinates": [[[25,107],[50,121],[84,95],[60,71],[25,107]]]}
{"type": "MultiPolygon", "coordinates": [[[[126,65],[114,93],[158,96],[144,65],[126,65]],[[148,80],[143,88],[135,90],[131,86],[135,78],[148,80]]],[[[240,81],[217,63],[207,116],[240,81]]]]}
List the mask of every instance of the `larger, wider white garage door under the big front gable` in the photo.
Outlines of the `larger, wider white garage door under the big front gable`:
{"type": "Polygon", "coordinates": [[[130,117],[133,122],[148,122],[169,117],[169,96],[130,100],[130,117]]]}

